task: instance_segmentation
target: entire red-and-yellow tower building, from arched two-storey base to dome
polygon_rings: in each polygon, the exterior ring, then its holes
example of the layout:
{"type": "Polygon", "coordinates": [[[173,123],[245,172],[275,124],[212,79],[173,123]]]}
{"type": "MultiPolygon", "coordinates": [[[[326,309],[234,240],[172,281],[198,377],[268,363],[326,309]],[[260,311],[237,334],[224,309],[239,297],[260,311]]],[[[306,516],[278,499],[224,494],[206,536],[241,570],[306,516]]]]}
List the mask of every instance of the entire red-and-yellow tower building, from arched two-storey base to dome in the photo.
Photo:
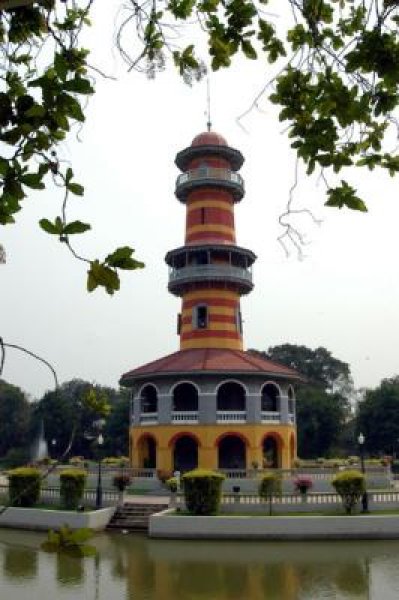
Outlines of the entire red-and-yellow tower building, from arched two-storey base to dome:
{"type": "Polygon", "coordinates": [[[132,390],[131,464],[164,471],[290,468],[297,445],[293,384],[301,377],[243,350],[240,298],[253,289],[256,259],[236,244],[243,156],[208,131],[175,162],[185,243],[165,260],[169,292],[182,302],[180,350],[121,378],[132,390]]]}

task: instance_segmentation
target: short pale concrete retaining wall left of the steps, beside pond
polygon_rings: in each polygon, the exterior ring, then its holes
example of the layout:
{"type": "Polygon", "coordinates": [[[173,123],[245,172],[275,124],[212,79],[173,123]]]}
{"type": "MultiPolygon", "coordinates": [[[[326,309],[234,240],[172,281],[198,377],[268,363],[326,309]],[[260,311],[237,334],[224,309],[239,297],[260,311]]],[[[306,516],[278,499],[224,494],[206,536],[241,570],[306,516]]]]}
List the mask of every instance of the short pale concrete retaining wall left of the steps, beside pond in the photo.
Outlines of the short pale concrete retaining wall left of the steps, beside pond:
{"type": "Polygon", "coordinates": [[[48,531],[68,525],[71,529],[89,527],[100,531],[108,525],[114,511],[115,507],[90,512],[10,507],[0,515],[0,527],[48,531]]]}

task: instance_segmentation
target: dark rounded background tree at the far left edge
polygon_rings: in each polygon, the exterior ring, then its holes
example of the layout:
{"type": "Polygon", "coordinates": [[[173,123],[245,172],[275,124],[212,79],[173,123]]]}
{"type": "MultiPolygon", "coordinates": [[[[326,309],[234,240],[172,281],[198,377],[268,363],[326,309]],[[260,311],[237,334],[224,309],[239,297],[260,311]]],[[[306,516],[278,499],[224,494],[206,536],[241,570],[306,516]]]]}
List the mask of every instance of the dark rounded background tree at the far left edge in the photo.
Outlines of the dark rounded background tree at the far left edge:
{"type": "Polygon", "coordinates": [[[0,456],[11,449],[26,447],[30,413],[24,392],[0,379],[0,456]]]}

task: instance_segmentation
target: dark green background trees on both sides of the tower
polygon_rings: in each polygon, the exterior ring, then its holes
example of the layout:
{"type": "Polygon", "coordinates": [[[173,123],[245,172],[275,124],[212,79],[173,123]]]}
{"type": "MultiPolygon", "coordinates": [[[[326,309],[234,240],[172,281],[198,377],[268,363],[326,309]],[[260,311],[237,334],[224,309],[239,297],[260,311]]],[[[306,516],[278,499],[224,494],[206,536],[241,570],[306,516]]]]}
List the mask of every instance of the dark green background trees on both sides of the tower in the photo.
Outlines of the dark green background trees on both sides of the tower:
{"type": "MultiPolygon", "coordinates": [[[[364,390],[357,402],[349,365],[326,348],[282,344],[250,352],[292,367],[305,379],[296,389],[300,458],[357,455],[359,432],[369,456],[399,454],[399,375],[364,390]]],[[[126,456],[128,390],[73,379],[29,402],[20,388],[0,380],[0,460],[28,461],[41,427],[51,456],[59,457],[71,436],[71,456],[96,456],[93,422],[98,410],[107,415],[102,454],[126,456]]]]}

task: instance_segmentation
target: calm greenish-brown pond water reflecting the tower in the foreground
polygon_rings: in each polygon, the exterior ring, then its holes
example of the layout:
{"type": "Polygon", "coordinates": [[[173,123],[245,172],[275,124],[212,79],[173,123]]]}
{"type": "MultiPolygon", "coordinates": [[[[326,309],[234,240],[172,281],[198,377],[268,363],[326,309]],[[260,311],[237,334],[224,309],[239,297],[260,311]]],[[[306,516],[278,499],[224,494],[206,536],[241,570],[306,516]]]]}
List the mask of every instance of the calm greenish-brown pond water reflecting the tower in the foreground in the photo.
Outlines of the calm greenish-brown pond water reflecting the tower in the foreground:
{"type": "Polygon", "coordinates": [[[46,554],[0,530],[7,600],[397,600],[399,541],[217,542],[96,536],[96,558],[46,554]]]}

